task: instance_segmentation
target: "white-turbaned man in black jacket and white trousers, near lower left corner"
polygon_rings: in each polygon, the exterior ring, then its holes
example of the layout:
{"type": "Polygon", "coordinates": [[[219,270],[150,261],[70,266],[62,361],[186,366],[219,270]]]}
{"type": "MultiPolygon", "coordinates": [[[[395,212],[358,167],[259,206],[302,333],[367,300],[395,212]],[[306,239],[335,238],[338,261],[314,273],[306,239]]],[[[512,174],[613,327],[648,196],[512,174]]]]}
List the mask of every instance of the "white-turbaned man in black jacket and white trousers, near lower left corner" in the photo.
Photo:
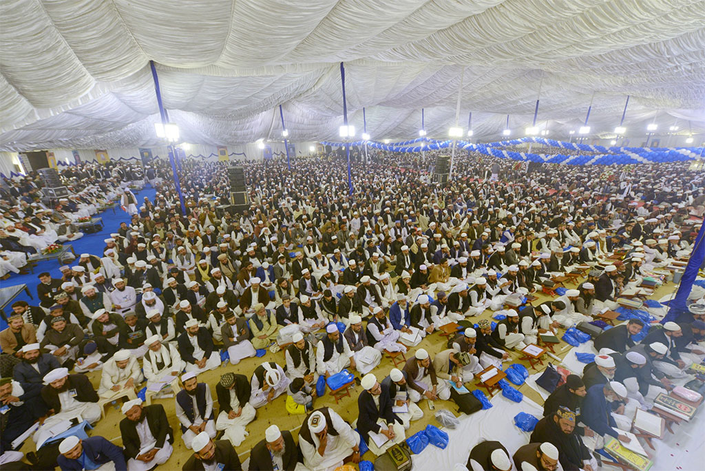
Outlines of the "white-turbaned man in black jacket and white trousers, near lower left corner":
{"type": "Polygon", "coordinates": [[[57,424],[72,419],[94,424],[100,419],[99,397],[85,374],[68,374],[66,368],[52,369],[44,375],[42,400],[47,404],[47,409],[54,410],[54,414],[42,422],[32,437],[39,446],[56,435],[56,431],[51,429],[57,424]]]}

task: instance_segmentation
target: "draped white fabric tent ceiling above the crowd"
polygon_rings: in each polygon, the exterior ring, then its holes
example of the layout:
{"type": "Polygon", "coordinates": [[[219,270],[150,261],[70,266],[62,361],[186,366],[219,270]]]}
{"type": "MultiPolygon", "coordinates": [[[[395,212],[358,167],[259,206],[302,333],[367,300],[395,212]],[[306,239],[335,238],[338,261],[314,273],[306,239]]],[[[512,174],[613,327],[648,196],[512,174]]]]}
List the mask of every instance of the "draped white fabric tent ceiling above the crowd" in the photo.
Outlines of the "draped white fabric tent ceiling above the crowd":
{"type": "MultiPolygon", "coordinates": [[[[0,149],[154,146],[164,106],[184,142],[337,139],[340,61],[350,123],[373,139],[429,137],[473,112],[493,140],[584,121],[643,136],[705,128],[705,1],[5,0],[0,149]],[[690,121],[690,124],[688,123],[690,121]],[[690,128],[689,128],[690,126],[690,128]]],[[[605,134],[606,135],[606,134],[605,134]]]]}

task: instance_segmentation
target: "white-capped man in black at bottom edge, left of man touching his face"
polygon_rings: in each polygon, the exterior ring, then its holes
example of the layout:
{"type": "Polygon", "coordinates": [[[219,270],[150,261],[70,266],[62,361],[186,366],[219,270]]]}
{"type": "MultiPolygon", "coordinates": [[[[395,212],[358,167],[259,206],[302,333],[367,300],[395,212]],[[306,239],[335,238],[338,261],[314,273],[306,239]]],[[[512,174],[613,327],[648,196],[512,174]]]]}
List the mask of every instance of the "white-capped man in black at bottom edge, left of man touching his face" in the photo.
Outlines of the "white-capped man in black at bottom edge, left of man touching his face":
{"type": "Polygon", "coordinates": [[[298,462],[298,447],[291,432],[281,432],[276,425],[264,431],[264,439],[250,451],[249,471],[294,471],[298,462]]]}

